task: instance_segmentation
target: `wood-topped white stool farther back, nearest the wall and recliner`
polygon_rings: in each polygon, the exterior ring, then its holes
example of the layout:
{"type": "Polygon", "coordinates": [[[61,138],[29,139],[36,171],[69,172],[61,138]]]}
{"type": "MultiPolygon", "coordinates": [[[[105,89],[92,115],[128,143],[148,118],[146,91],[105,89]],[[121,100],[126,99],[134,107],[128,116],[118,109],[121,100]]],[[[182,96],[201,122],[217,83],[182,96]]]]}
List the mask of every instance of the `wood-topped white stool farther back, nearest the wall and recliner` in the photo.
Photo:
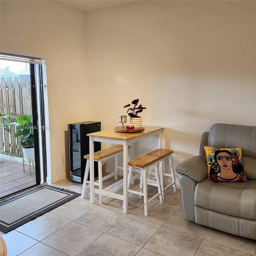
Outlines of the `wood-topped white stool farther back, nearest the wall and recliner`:
{"type": "Polygon", "coordinates": [[[173,153],[173,150],[158,148],[158,149],[146,154],[148,156],[156,156],[156,157],[159,158],[158,168],[159,168],[159,171],[160,171],[160,180],[161,180],[161,185],[162,185],[163,198],[164,198],[164,190],[166,190],[166,188],[169,188],[170,186],[173,186],[173,190],[176,191],[174,168],[173,168],[172,158],[171,158],[172,153],[173,153]],[[164,160],[166,158],[168,158],[168,160],[169,160],[170,173],[165,172],[164,160]],[[172,178],[172,182],[170,184],[168,184],[168,186],[166,186],[166,187],[164,187],[164,176],[168,176],[168,177],[172,178]]]}

